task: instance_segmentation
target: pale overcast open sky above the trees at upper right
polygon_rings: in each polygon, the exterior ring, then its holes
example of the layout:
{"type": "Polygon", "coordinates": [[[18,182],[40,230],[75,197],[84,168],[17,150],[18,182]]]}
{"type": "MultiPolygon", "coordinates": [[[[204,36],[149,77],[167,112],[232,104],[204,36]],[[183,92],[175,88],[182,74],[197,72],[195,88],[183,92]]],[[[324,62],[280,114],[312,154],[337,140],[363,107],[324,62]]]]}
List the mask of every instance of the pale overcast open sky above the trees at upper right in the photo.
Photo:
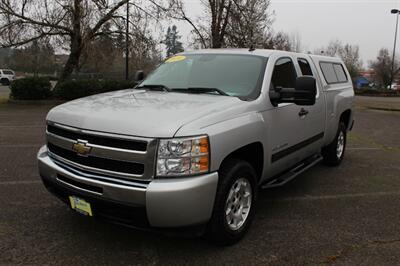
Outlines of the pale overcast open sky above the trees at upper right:
{"type": "MultiPolygon", "coordinates": [[[[200,0],[184,1],[188,16],[202,14],[200,0]]],[[[359,45],[367,65],[380,48],[392,51],[396,16],[390,10],[400,8],[400,0],[271,0],[271,8],[275,11],[274,31],[298,33],[304,50],[314,51],[339,39],[359,45]]],[[[189,24],[175,24],[181,35],[188,36],[189,24]]],[[[186,38],[182,41],[187,43],[186,38]]],[[[400,55],[400,43],[397,47],[400,55]]]]}

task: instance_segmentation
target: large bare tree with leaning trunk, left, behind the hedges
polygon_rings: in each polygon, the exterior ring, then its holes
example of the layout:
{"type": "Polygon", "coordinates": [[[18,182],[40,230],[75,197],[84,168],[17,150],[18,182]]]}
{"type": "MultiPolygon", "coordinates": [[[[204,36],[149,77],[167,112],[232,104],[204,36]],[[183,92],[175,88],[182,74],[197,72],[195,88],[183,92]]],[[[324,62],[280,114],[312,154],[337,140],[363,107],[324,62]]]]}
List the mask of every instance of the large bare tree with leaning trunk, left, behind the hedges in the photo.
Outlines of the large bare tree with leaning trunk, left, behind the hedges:
{"type": "MultiPolygon", "coordinates": [[[[158,8],[155,0],[149,0],[158,8]]],[[[67,79],[80,65],[87,45],[102,34],[107,22],[123,25],[120,9],[128,0],[0,0],[0,45],[23,46],[34,40],[53,38],[68,43],[70,55],[60,80],[67,79]]],[[[135,5],[135,3],[133,3],[135,5]]],[[[148,12],[140,5],[138,10],[148,12]]],[[[121,31],[116,26],[113,31],[121,31]]]]}

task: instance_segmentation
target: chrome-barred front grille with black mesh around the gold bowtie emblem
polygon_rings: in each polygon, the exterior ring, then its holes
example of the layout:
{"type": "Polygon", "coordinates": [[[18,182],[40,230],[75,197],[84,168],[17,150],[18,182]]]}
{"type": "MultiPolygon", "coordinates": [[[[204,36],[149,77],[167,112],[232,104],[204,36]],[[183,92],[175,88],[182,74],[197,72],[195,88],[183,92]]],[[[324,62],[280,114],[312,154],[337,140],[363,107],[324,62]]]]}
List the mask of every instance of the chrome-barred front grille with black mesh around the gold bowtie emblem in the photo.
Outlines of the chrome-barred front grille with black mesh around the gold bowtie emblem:
{"type": "Polygon", "coordinates": [[[154,176],[155,139],[83,130],[51,123],[47,147],[53,160],[86,173],[123,180],[150,180],[154,176]],[[77,143],[85,143],[89,154],[78,154],[77,143]]]}

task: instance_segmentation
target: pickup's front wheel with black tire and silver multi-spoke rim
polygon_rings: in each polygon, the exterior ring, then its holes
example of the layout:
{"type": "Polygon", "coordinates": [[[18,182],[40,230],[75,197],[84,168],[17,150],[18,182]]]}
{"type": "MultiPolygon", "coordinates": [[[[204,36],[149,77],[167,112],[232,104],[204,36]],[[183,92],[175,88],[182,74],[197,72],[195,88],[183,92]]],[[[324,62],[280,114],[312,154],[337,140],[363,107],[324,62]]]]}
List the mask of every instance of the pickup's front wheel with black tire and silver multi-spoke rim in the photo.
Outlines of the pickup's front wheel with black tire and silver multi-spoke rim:
{"type": "Polygon", "coordinates": [[[257,190],[256,172],[248,162],[229,159],[224,163],[219,171],[214,209],[207,225],[206,238],[222,246],[232,245],[242,239],[254,218],[257,190]],[[231,191],[234,188],[240,190],[231,191]],[[250,195],[247,194],[249,192],[250,195]],[[230,215],[226,214],[228,210],[230,215]],[[235,225],[234,221],[240,220],[238,217],[243,221],[235,225]]]}

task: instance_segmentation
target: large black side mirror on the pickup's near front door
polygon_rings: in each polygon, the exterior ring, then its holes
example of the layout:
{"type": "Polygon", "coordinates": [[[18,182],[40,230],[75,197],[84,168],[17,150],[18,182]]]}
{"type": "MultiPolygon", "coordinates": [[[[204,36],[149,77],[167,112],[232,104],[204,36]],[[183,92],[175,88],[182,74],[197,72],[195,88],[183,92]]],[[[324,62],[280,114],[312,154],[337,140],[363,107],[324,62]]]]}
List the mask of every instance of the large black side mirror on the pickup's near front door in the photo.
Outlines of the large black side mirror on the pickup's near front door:
{"type": "Polygon", "coordinates": [[[317,82],[310,76],[302,76],[296,79],[295,88],[277,87],[270,91],[271,103],[277,106],[279,103],[294,103],[297,105],[314,105],[317,95],[317,82]]]}

